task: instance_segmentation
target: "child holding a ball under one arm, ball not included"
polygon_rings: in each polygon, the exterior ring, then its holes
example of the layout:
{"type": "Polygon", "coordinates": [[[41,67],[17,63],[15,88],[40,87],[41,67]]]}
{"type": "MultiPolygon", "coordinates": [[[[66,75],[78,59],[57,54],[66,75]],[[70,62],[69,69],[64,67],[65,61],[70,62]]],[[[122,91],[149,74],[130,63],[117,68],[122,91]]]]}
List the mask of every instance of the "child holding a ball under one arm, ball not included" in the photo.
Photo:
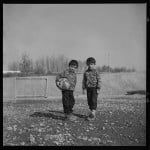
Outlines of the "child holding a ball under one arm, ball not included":
{"type": "Polygon", "coordinates": [[[70,119],[70,120],[76,119],[76,117],[72,114],[72,112],[73,112],[73,106],[75,104],[73,92],[77,82],[77,76],[76,76],[77,68],[78,68],[78,62],[76,60],[71,60],[69,62],[69,68],[64,70],[62,73],[58,74],[56,77],[56,84],[60,78],[67,78],[70,83],[70,87],[68,90],[62,90],[62,104],[63,104],[64,114],[66,119],[70,119]]]}

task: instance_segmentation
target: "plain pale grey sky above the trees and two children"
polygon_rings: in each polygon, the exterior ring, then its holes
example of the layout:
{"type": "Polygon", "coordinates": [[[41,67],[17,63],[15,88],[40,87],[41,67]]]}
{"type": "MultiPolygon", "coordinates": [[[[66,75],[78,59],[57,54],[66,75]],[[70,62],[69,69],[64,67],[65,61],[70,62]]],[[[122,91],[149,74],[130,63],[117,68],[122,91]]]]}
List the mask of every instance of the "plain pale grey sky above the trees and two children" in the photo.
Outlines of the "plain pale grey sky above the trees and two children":
{"type": "Polygon", "coordinates": [[[146,4],[4,4],[4,70],[24,52],[145,70],[146,4]]]}

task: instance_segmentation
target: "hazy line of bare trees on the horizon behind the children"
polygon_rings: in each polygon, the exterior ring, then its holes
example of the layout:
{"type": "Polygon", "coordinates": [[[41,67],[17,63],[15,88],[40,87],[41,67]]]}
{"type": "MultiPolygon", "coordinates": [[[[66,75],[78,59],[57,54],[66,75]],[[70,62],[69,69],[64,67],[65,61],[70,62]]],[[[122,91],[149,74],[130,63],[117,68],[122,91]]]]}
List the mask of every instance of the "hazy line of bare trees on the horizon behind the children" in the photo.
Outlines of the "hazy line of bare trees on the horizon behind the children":
{"type": "MultiPolygon", "coordinates": [[[[21,71],[22,76],[26,75],[55,75],[68,67],[69,59],[64,55],[46,56],[33,61],[27,53],[23,53],[18,61],[13,61],[8,65],[12,71],[21,71]]],[[[83,73],[86,69],[86,62],[78,60],[79,67],[77,72],[83,73]]],[[[134,72],[135,69],[126,67],[111,68],[110,66],[97,66],[99,72],[134,72]]]]}

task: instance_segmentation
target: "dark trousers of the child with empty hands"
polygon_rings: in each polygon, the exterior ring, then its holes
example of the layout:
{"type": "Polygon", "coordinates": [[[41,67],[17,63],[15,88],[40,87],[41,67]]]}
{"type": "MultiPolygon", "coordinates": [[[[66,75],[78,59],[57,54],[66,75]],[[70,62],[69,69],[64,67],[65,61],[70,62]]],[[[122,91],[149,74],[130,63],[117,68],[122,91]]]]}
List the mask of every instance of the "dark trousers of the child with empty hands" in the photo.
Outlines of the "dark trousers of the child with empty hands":
{"type": "Polygon", "coordinates": [[[97,108],[97,89],[96,88],[87,88],[87,101],[90,110],[96,110],[97,108]]]}

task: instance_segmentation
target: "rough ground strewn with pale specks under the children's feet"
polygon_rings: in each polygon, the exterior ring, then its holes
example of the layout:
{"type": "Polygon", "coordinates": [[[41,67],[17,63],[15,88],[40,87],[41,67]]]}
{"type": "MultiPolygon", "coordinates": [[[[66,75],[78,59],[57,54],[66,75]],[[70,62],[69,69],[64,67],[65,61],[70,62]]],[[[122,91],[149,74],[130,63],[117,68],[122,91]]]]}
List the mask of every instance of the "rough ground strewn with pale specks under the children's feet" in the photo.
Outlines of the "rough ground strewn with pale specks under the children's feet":
{"type": "Polygon", "coordinates": [[[61,99],[3,103],[4,146],[146,146],[146,99],[98,100],[96,120],[87,121],[84,98],[76,98],[76,121],[64,119],[61,99]]]}

